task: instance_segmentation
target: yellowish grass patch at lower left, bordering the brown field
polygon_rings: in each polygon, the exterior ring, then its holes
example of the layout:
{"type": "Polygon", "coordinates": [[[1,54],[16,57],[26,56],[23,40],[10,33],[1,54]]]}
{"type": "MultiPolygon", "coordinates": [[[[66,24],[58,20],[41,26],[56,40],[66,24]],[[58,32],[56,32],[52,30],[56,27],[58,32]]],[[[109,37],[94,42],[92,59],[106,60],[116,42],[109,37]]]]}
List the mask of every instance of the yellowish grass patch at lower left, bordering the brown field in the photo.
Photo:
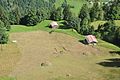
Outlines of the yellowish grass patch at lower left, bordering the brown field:
{"type": "Polygon", "coordinates": [[[6,75],[9,75],[14,69],[20,58],[21,53],[16,44],[9,42],[2,45],[2,51],[0,49],[0,80],[15,80],[14,78],[6,77],[6,75]]]}

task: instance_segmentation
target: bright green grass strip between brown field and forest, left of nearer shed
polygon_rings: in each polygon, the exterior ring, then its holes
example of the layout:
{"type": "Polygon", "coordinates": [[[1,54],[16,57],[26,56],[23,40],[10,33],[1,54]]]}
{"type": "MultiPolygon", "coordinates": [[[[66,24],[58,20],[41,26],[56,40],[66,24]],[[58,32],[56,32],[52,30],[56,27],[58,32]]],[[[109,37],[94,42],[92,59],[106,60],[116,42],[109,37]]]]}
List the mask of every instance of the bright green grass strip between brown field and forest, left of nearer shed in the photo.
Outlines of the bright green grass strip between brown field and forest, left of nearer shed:
{"type": "MultiPolygon", "coordinates": [[[[50,22],[51,22],[51,20],[45,20],[45,21],[37,24],[36,26],[30,26],[30,27],[23,26],[23,25],[12,25],[10,33],[29,32],[29,31],[37,31],[37,30],[43,30],[43,31],[50,32],[52,30],[51,28],[49,28],[50,22]]],[[[58,23],[61,25],[61,21],[58,23]]],[[[78,34],[75,30],[73,31],[72,29],[56,29],[56,30],[54,30],[54,32],[64,33],[64,34],[74,36],[76,38],[84,39],[84,36],[78,34]]]]}

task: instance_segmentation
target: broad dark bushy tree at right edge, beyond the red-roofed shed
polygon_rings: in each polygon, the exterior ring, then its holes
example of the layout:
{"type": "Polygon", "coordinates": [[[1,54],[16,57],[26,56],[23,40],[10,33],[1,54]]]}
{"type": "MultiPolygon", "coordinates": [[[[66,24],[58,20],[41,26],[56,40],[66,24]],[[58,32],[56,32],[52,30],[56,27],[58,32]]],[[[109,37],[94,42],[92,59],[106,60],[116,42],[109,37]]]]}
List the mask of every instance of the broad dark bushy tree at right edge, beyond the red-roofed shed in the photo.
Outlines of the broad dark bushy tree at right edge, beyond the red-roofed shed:
{"type": "Polygon", "coordinates": [[[98,31],[101,34],[100,38],[114,44],[116,43],[116,40],[118,40],[118,36],[116,35],[116,33],[119,35],[118,30],[119,29],[115,26],[114,21],[108,21],[98,28],[98,31]]]}

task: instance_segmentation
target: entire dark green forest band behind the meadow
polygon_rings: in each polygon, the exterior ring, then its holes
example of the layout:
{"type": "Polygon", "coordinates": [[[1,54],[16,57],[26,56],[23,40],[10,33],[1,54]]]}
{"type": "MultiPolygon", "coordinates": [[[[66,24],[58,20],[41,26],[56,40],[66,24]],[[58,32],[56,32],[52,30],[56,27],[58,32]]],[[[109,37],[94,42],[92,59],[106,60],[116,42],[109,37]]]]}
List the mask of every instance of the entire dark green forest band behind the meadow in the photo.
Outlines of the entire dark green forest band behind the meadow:
{"type": "Polygon", "coordinates": [[[60,7],[55,6],[56,0],[0,0],[0,30],[3,31],[0,35],[6,43],[8,38],[5,34],[10,30],[11,24],[32,26],[47,19],[64,20],[65,27],[76,29],[79,34],[94,34],[103,40],[118,44],[120,29],[114,24],[114,20],[120,19],[120,1],[109,1],[107,4],[100,0],[92,1],[92,6],[83,4],[76,16],[71,11],[74,6],[69,5],[67,0],[64,0],[60,7]],[[108,22],[99,25],[95,30],[90,23],[97,20],[108,22]]]}

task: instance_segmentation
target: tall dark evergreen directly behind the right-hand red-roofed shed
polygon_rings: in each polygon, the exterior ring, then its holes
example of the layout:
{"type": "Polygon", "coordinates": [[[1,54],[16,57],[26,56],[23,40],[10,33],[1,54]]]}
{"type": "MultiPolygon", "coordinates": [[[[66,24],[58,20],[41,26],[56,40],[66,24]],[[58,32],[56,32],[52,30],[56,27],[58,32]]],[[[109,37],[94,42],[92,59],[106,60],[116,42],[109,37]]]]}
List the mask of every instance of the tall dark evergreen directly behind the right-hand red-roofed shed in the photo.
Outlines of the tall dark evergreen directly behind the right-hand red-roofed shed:
{"type": "Polygon", "coordinates": [[[86,4],[84,4],[80,10],[79,14],[80,18],[80,34],[88,35],[94,33],[94,27],[90,26],[90,15],[89,15],[89,8],[86,4]]]}

